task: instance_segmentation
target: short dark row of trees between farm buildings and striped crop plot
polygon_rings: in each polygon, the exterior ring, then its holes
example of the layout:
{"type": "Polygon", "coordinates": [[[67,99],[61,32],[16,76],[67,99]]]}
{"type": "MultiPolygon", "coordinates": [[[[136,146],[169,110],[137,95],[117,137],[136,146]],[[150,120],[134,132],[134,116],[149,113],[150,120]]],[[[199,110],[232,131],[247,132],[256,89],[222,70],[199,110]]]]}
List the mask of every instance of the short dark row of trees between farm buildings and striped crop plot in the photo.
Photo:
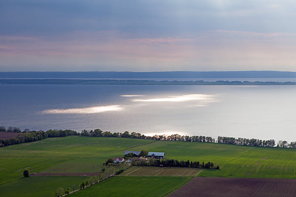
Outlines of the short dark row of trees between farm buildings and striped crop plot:
{"type": "Polygon", "coordinates": [[[153,158],[149,158],[148,160],[136,159],[133,158],[131,161],[132,165],[138,166],[164,166],[164,167],[195,167],[195,168],[207,168],[207,169],[220,169],[219,165],[214,164],[213,162],[208,163],[199,163],[199,162],[190,162],[187,161],[178,161],[174,159],[165,159],[165,160],[157,160],[153,158]]]}

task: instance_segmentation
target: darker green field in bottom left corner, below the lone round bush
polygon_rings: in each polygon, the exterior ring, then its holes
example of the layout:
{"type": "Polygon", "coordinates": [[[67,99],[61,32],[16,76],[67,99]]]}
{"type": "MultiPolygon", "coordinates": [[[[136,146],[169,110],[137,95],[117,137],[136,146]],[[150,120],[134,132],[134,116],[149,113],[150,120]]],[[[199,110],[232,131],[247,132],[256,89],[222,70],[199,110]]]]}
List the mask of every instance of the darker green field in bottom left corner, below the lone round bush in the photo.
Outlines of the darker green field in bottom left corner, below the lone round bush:
{"type": "Polygon", "coordinates": [[[59,187],[79,189],[86,180],[82,176],[36,176],[21,178],[9,184],[0,185],[2,197],[49,197],[59,187]]]}

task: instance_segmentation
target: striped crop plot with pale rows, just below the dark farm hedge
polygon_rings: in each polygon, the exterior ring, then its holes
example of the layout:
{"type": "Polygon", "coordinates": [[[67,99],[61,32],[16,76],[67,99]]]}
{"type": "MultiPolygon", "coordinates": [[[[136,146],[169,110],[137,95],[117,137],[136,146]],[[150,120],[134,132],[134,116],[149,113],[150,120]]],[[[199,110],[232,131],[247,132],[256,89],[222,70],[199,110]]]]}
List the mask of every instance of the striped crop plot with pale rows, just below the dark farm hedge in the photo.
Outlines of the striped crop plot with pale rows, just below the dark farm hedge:
{"type": "Polygon", "coordinates": [[[200,168],[132,166],[120,176],[196,176],[200,168]]]}

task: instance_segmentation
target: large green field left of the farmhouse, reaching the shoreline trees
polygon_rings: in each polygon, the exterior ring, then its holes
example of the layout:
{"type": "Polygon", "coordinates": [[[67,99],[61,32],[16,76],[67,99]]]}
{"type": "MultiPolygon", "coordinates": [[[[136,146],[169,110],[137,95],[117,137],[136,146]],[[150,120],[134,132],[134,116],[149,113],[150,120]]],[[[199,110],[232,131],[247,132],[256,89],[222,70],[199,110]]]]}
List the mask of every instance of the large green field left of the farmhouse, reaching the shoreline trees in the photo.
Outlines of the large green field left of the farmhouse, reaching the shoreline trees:
{"type": "Polygon", "coordinates": [[[151,142],[144,139],[69,136],[6,146],[0,148],[0,184],[22,177],[25,168],[31,173],[98,171],[107,158],[122,156],[123,150],[129,147],[151,142]]]}

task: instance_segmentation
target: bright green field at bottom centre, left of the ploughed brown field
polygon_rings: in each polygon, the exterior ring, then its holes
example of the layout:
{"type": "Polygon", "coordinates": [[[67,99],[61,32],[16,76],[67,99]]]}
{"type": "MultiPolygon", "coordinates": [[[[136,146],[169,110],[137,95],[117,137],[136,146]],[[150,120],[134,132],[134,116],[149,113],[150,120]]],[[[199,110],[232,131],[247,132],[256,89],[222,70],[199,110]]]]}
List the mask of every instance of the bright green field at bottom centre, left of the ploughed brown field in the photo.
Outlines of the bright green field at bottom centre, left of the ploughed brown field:
{"type": "Polygon", "coordinates": [[[190,179],[190,177],[115,176],[70,197],[163,197],[190,179]]]}

